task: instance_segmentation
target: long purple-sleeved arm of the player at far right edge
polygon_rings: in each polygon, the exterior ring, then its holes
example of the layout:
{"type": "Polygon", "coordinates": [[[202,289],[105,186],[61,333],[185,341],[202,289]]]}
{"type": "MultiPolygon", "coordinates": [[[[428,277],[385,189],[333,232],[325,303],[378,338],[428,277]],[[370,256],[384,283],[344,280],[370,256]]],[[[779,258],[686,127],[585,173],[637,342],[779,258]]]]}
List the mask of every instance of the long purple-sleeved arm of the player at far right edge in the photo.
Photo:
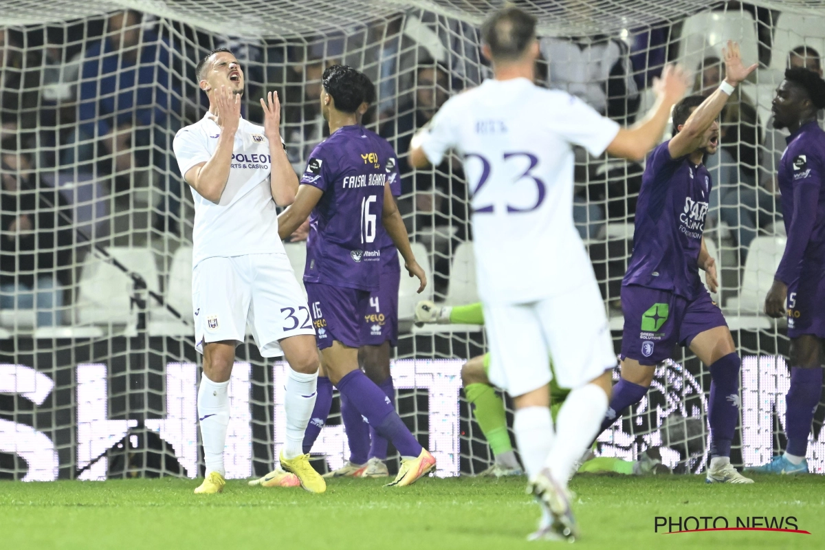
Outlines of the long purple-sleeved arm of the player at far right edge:
{"type": "Polygon", "coordinates": [[[819,190],[822,187],[818,158],[809,155],[807,162],[799,169],[799,174],[808,176],[794,181],[794,213],[788,228],[788,242],[779,267],[774,275],[774,282],[765,298],[765,313],[769,317],[785,316],[785,298],[788,285],[799,276],[805,248],[811,240],[813,224],[817,219],[819,190]]]}

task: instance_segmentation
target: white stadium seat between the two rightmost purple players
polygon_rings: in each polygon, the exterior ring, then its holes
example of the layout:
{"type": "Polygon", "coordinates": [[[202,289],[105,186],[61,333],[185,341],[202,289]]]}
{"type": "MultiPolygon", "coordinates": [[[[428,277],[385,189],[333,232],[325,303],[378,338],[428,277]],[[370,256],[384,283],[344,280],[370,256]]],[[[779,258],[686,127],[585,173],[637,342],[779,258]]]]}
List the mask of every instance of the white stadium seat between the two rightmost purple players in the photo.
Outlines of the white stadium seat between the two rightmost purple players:
{"type": "Polygon", "coordinates": [[[756,237],[745,261],[745,274],[739,295],[728,299],[725,308],[732,312],[762,313],[765,296],[773,284],[776,268],[785,252],[785,237],[756,237]]]}

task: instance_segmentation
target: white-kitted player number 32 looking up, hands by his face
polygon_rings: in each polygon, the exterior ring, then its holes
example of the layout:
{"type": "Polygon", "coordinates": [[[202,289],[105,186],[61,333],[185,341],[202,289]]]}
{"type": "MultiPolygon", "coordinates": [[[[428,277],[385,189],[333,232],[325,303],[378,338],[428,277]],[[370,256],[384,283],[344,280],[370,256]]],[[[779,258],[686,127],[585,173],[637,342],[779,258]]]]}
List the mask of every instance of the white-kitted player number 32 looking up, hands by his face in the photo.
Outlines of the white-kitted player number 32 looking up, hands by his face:
{"type": "Polygon", "coordinates": [[[224,488],[229,377],[247,323],[261,355],[285,355],[291,367],[280,457],[288,472],[276,469],[262,485],[300,483],[323,492],[326,483],[301,449],[315,404],[318,350],[304,293],[278,237],[276,204],[291,204],[298,190],[281,140],[281,106],[270,92],[261,101],[264,125],[243,120],[243,71],[229,49],[207,55],[197,78],[209,96],[209,112],[181,129],[173,143],[195,200],[192,308],[196,349],[204,356],[198,417],[206,462],[205,480],[195,492],[224,488]]]}

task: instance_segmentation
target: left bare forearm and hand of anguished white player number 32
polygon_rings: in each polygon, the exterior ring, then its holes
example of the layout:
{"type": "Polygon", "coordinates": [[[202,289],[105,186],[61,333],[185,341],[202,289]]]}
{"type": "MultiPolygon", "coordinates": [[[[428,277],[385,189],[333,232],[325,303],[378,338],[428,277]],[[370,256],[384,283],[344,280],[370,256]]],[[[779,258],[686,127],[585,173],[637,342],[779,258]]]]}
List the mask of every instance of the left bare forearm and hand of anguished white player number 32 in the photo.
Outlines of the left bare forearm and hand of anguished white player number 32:
{"type": "Polygon", "coordinates": [[[226,181],[229,180],[229,169],[232,166],[232,151],[235,143],[235,133],[241,120],[241,96],[234,95],[231,90],[213,90],[214,105],[218,115],[212,117],[220,128],[218,147],[212,157],[206,162],[199,162],[183,175],[183,179],[198,195],[206,200],[218,204],[220,195],[224,193],[226,181]]]}

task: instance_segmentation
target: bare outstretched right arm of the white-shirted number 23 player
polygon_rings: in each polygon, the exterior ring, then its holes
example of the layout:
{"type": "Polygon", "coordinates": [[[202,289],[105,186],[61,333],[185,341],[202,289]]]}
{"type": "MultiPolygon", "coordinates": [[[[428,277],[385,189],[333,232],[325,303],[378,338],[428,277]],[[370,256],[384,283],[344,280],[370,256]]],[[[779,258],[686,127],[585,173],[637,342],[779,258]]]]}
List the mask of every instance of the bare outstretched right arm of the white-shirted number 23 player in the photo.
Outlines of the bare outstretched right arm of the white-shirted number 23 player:
{"type": "Polygon", "coordinates": [[[662,78],[653,82],[656,105],[648,115],[630,128],[620,128],[619,133],[607,146],[607,153],[614,157],[641,162],[656,147],[670,119],[671,108],[685,95],[690,82],[687,73],[678,65],[667,65],[662,78]]]}

